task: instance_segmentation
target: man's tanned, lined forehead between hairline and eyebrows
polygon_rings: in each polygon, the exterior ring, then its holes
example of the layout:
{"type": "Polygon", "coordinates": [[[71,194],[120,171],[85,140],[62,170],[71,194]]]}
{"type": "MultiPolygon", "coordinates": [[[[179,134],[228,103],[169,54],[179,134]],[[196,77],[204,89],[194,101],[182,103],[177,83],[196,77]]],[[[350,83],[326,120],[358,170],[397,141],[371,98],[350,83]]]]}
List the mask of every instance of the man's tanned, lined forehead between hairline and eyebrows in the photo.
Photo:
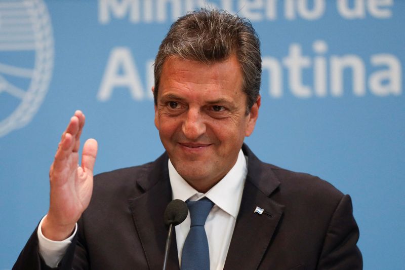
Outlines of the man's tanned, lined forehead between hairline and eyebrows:
{"type": "Polygon", "coordinates": [[[160,75],[158,96],[179,91],[205,95],[243,94],[242,71],[236,56],[212,63],[168,58],[160,75]]]}

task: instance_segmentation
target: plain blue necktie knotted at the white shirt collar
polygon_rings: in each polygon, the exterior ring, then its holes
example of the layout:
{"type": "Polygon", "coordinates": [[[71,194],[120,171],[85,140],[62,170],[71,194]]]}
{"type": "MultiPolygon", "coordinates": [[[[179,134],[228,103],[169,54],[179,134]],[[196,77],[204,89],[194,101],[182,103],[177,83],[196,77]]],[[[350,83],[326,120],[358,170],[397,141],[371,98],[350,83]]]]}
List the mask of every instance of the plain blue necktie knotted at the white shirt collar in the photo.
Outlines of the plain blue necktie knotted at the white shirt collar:
{"type": "Polygon", "coordinates": [[[208,198],[186,203],[191,224],[181,254],[181,270],[210,270],[210,252],[204,224],[214,203],[208,198]]]}

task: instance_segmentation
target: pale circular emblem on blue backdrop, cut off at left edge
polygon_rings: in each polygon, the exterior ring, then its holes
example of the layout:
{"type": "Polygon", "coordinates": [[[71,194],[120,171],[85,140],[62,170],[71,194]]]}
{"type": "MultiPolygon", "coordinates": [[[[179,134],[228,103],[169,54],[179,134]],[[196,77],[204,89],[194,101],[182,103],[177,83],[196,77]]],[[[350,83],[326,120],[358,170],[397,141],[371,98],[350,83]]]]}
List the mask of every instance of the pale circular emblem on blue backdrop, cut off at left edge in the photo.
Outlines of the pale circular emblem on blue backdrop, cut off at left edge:
{"type": "Polygon", "coordinates": [[[27,125],[48,91],[54,41],[42,0],[0,0],[0,137],[27,125]]]}

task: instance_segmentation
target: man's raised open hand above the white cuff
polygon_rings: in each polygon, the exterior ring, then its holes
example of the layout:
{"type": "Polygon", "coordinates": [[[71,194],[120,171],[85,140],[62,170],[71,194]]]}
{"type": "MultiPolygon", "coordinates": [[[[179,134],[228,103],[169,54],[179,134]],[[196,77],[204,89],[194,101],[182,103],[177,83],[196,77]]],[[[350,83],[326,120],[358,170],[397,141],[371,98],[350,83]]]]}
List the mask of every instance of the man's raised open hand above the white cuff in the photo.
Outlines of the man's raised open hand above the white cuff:
{"type": "Polygon", "coordinates": [[[42,224],[42,233],[54,241],[64,240],[71,235],[92,196],[97,141],[89,139],[85,142],[82,164],[78,165],[80,135],[84,125],[85,115],[82,111],[75,111],[62,134],[49,171],[50,206],[42,224]]]}

